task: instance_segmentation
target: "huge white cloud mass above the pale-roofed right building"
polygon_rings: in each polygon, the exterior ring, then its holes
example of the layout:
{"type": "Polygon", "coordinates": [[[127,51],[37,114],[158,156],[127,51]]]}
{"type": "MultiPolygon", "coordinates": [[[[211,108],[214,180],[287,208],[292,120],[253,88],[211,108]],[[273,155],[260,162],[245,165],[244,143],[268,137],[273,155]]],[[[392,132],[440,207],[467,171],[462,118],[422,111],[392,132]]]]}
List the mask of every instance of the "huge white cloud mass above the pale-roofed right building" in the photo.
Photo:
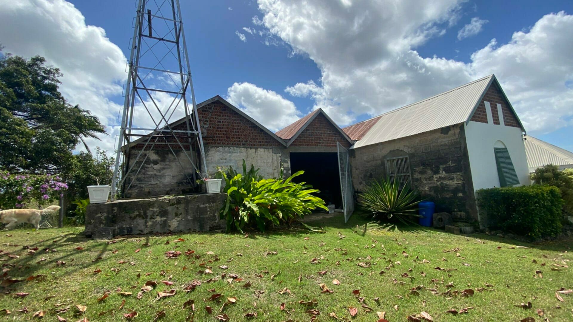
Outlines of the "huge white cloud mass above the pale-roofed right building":
{"type": "Polygon", "coordinates": [[[544,15],[507,44],[495,40],[469,63],[423,57],[416,48],[447,32],[460,15],[458,1],[368,2],[258,0],[253,23],[308,56],[319,80],[286,93],[311,97],[340,125],[374,116],[494,73],[528,130],[571,125],[573,16],[544,15]],[[389,7],[393,10],[387,10],[389,7]]]}

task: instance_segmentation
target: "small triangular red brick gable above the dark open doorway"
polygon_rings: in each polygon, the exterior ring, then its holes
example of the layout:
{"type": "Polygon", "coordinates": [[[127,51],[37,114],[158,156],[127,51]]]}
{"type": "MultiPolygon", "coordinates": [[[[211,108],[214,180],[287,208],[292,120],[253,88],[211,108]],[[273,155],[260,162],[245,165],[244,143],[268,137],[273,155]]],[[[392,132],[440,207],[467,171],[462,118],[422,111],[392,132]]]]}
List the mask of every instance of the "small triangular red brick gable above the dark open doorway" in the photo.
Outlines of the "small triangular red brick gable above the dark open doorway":
{"type": "Polygon", "coordinates": [[[336,147],[336,142],[340,142],[344,147],[349,148],[350,143],[344,138],[324,115],[319,114],[312,120],[311,124],[303,130],[295,139],[291,146],[297,147],[336,147]]]}

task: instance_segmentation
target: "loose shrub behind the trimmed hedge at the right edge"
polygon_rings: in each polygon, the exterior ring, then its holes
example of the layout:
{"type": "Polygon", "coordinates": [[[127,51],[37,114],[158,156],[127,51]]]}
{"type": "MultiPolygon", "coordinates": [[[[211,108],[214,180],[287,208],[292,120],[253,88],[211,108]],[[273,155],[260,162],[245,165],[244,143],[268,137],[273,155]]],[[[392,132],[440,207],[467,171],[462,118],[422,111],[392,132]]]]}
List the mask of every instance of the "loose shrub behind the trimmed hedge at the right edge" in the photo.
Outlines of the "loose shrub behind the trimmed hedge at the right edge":
{"type": "Polygon", "coordinates": [[[559,171],[558,166],[548,164],[537,168],[531,174],[531,179],[535,184],[549,184],[558,187],[563,198],[563,211],[573,215],[573,169],[559,171]]]}

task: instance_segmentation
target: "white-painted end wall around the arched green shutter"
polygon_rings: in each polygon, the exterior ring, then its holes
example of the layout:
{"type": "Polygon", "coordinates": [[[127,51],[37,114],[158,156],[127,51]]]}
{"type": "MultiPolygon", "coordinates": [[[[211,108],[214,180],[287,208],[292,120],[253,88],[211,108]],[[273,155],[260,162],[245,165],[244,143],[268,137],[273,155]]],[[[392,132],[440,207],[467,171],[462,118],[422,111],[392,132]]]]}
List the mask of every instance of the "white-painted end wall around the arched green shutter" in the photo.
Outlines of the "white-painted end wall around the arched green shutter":
{"type": "Polygon", "coordinates": [[[474,191],[500,186],[493,152],[497,141],[507,147],[520,184],[530,184],[521,128],[470,121],[465,135],[474,191]]]}

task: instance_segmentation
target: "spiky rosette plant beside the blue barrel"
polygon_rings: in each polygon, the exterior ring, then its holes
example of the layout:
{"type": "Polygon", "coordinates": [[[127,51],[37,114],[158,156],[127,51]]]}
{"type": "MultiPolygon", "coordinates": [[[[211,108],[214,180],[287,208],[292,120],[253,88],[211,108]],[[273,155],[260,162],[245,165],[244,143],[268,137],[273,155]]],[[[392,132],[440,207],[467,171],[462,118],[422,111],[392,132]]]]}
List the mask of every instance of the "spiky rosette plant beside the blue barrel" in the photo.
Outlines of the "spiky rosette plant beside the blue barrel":
{"type": "Polygon", "coordinates": [[[413,222],[417,214],[418,203],[422,200],[416,190],[411,190],[409,184],[403,187],[398,180],[390,178],[372,181],[364,192],[359,195],[360,205],[372,213],[375,219],[386,217],[398,219],[404,223],[413,222]]]}

